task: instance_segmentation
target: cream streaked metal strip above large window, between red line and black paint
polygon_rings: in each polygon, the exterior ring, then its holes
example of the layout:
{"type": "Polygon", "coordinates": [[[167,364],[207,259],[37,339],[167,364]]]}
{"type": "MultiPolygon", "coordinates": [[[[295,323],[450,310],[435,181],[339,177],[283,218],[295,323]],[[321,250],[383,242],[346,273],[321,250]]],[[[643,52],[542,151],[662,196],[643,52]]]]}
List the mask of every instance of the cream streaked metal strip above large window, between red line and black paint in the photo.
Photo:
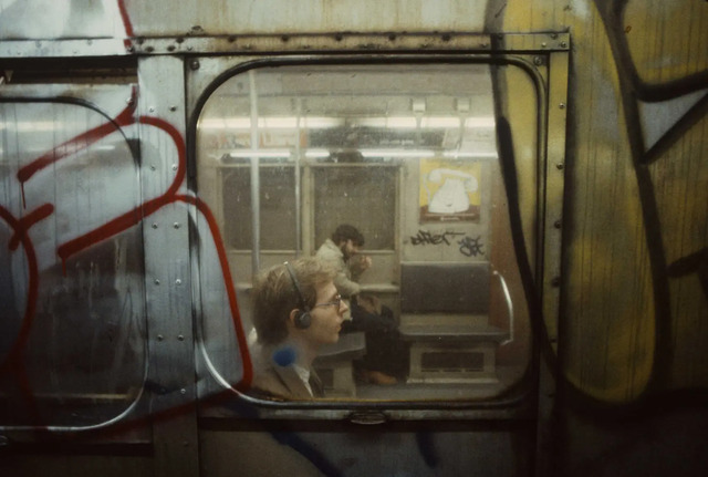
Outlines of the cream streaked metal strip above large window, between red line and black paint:
{"type": "Polygon", "coordinates": [[[138,37],[290,34],[372,31],[473,31],[487,0],[125,0],[138,37]]]}

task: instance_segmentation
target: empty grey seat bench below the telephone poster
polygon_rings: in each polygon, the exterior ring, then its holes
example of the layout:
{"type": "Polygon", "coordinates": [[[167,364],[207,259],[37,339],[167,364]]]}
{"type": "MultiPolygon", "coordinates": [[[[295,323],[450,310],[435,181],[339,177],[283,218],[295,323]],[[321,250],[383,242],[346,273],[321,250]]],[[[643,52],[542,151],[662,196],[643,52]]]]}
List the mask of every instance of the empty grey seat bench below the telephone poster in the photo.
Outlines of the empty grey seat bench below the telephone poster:
{"type": "Polygon", "coordinates": [[[489,324],[489,262],[404,262],[400,335],[410,342],[408,383],[497,381],[499,344],[489,324]]]}

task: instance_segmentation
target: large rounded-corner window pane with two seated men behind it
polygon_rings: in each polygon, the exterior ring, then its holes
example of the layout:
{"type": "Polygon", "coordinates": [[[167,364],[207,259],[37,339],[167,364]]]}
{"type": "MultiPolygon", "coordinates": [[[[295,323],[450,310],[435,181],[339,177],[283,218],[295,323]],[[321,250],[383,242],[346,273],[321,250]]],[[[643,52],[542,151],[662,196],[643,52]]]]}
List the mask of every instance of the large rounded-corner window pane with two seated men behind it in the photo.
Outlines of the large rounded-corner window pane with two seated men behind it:
{"type": "Polygon", "coordinates": [[[373,402],[493,400],[518,384],[531,340],[509,203],[533,250],[535,91],[514,66],[403,63],[263,68],[216,87],[197,125],[200,198],[226,235],[225,259],[201,252],[201,289],[218,290],[201,299],[214,382],[236,387],[252,366],[260,398],[373,402]],[[500,76],[514,84],[503,107],[500,76]],[[513,163],[500,160],[499,111],[521,141],[513,163]],[[298,299],[312,322],[273,338],[252,278],[312,256],[337,272],[347,304],[298,299]],[[314,330],[324,310],[343,320],[329,338],[314,330]],[[316,375],[316,390],[295,369],[316,375]]]}

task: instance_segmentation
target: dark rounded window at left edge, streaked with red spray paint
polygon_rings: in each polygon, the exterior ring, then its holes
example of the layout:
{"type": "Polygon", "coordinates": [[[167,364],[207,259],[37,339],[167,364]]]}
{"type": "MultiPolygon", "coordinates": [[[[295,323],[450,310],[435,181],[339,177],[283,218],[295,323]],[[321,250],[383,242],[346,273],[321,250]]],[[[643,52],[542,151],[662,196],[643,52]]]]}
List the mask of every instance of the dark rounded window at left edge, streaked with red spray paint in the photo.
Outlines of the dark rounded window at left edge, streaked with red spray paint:
{"type": "Polygon", "coordinates": [[[143,388],[140,191],[121,93],[106,111],[0,102],[0,426],[102,426],[143,388]]]}

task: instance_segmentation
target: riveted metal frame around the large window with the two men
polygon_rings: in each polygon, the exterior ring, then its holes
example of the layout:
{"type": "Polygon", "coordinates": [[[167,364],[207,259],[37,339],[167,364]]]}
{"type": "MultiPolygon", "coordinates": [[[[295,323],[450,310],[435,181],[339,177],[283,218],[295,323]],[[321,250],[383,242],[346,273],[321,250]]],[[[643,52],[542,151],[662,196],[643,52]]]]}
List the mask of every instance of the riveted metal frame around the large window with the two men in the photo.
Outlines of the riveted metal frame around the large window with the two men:
{"type": "MultiPolygon", "coordinates": [[[[570,35],[539,34],[468,34],[468,35],[397,35],[396,45],[385,35],[295,35],[287,41],[273,37],[252,37],[248,43],[228,39],[194,39],[178,45],[170,40],[149,40],[143,49],[153,52],[176,50],[198,52],[221,50],[223,56],[187,59],[188,134],[196,135],[200,107],[223,81],[248,70],[267,66],[316,64],[399,63],[492,63],[514,65],[529,73],[537,87],[538,106],[538,201],[537,263],[533,279],[542,303],[542,328],[545,340],[555,351],[560,301],[562,208],[565,164],[565,124],[568,105],[570,35]],[[282,41],[281,41],[282,40],[282,41]],[[366,42],[364,42],[366,40],[366,42]],[[425,45],[420,41],[425,40],[425,45]],[[364,43],[363,43],[364,42],[364,43]],[[194,43],[194,44],[192,44],[194,43]],[[366,48],[363,45],[366,44],[366,48]],[[301,52],[315,51],[303,55],[301,52]],[[427,50],[429,53],[420,53],[427,50]],[[244,52],[240,55],[238,53],[244,52]],[[257,52],[257,54],[253,54],[257,52]],[[237,53],[237,54],[233,54],[237,53]],[[227,65],[225,68],[225,65],[227,65]]],[[[196,151],[191,142],[191,157],[196,151]]],[[[194,164],[192,164],[194,165],[194,164]]],[[[194,176],[194,172],[192,172],[194,176]]],[[[197,326],[199,324],[197,323],[197,326]]],[[[273,403],[253,400],[235,392],[235,397],[260,418],[308,418],[377,422],[385,419],[510,418],[535,415],[535,393],[543,388],[552,394],[552,372],[540,373],[540,350],[533,350],[527,392],[507,400],[486,402],[313,402],[273,403]],[[541,381],[541,383],[539,383],[541,381]]],[[[545,367],[551,366],[546,363],[545,367]]],[[[552,366],[551,366],[552,367],[552,366]]],[[[233,390],[235,391],[235,390],[233,390]]],[[[227,412],[227,414],[229,414],[227,412]]],[[[237,417],[239,413],[231,415],[237,417]]],[[[542,411],[543,414],[543,411],[542,411]]]]}

